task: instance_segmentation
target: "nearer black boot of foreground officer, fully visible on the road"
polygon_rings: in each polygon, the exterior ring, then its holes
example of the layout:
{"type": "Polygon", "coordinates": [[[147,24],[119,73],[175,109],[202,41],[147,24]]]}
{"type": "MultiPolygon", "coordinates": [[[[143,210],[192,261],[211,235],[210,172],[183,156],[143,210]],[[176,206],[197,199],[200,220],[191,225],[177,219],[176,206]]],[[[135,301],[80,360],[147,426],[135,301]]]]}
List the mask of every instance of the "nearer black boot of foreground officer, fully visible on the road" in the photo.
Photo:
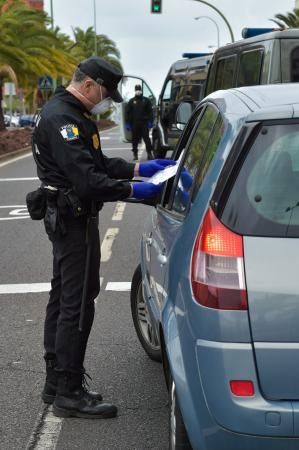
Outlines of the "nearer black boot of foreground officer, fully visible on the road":
{"type": "Polygon", "coordinates": [[[58,417],[108,419],[117,415],[117,408],[92,398],[83,389],[81,374],[62,372],[58,378],[53,413],[58,417]]]}

